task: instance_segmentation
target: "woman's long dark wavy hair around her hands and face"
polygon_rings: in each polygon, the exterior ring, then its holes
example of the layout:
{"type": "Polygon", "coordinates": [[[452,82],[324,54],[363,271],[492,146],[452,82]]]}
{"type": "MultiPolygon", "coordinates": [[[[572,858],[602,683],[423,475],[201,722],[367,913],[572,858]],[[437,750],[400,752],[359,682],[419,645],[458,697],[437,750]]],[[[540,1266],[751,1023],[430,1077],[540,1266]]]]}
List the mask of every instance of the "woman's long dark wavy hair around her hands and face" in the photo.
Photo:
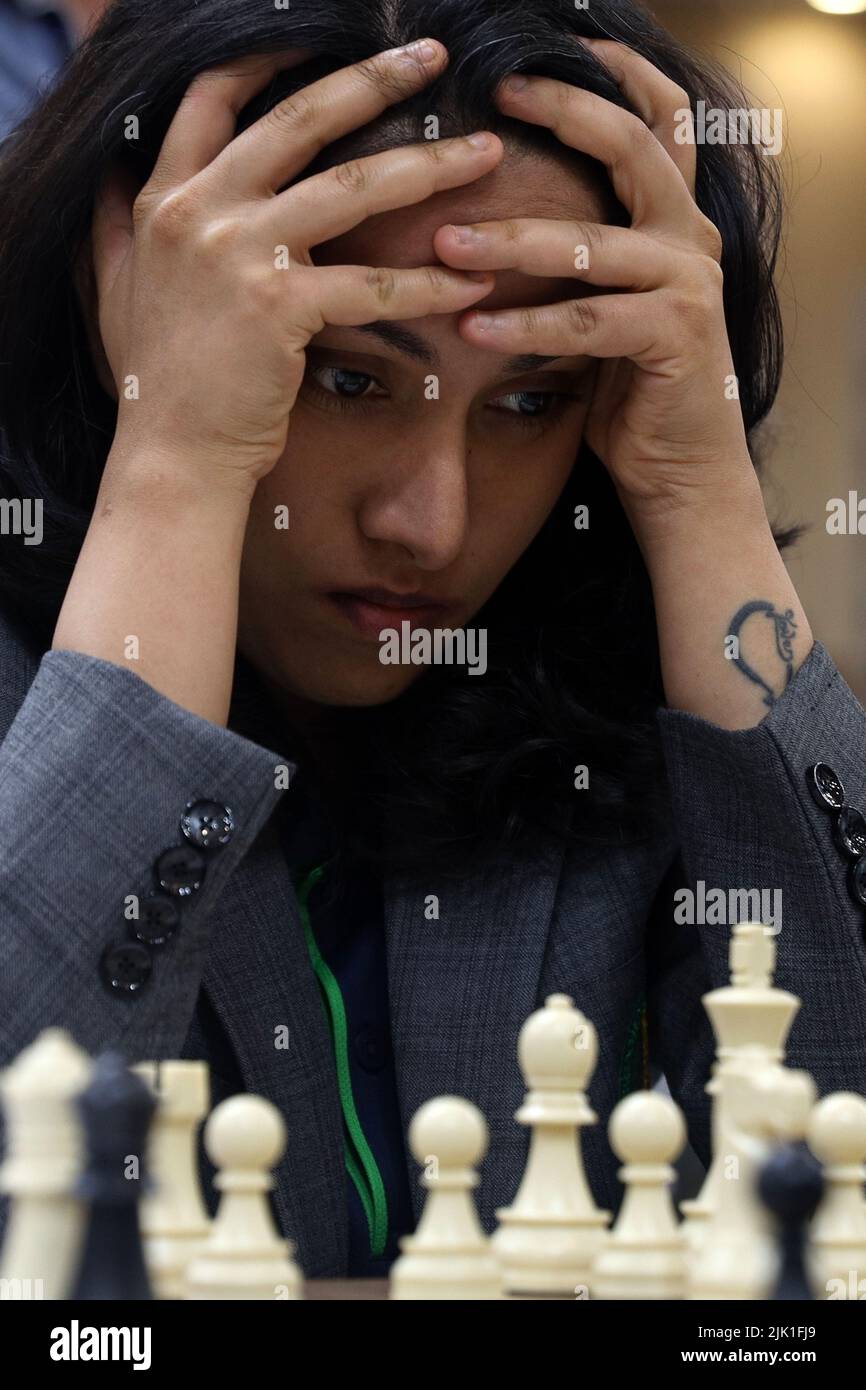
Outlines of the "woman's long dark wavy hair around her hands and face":
{"type": "MultiPolygon", "coordinates": [[[[272,0],[115,0],[0,149],[0,493],[43,499],[42,546],[0,538],[0,599],[43,649],[115,427],[72,282],[107,161],[124,161],[145,181],[189,82],[218,63],[288,46],[316,54],[279,74],[242,113],[242,128],[325,72],[425,35],[449,50],[443,75],[322,152],[304,175],[414,143],[436,114],[443,136],[488,128],[580,161],[606,190],[612,221],[627,222],[601,165],[498,111],[499,81],[510,71],[542,74],[630,108],[610,72],[574,42],[607,36],[649,58],[692,106],[744,106],[723,70],[632,0],[592,0],[588,10],[562,0],[292,0],[288,10],[272,0]],[[140,118],[138,142],[125,139],[131,114],[140,118]]],[[[723,236],[727,329],[758,467],[755,431],[781,371],[773,285],[781,178],[751,145],[703,145],[696,200],[723,236]]],[[[777,534],[777,543],[798,534],[777,534]]],[[[613,484],[585,446],[545,527],[474,623],[488,628],[485,677],[434,667],[386,706],[332,712],[327,758],[318,756],[321,734],[297,735],[345,848],[459,873],[493,845],[535,852],[548,835],[603,847],[651,834],[666,805],[652,592],[613,484]],[[582,532],[574,531],[578,503],[589,506],[582,532]],[[578,763],[591,774],[580,794],[578,763]],[[386,847],[371,809],[389,813],[386,847]]],[[[245,677],[264,702],[254,673],[245,677]]]]}

